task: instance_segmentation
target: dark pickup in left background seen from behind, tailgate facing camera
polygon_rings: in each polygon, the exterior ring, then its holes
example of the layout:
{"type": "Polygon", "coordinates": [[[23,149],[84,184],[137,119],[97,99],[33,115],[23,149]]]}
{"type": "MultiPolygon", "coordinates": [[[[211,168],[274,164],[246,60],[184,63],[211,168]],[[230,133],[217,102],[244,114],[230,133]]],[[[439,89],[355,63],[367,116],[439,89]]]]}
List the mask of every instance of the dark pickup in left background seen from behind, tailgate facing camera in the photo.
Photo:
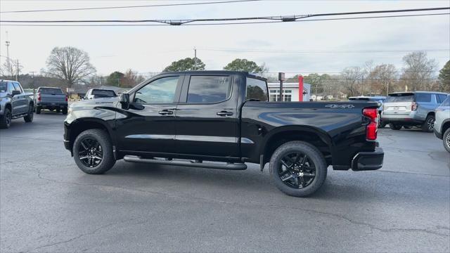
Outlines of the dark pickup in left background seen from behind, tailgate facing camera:
{"type": "Polygon", "coordinates": [[[68,96],[63,93],[60,88],[55,87],[39,87],[34,96],[34,103],[36,104],[36,113],[41,113],[41,110],[56,110],[56,112],[63,112],[63,115],[68,113],[68,96]]]}

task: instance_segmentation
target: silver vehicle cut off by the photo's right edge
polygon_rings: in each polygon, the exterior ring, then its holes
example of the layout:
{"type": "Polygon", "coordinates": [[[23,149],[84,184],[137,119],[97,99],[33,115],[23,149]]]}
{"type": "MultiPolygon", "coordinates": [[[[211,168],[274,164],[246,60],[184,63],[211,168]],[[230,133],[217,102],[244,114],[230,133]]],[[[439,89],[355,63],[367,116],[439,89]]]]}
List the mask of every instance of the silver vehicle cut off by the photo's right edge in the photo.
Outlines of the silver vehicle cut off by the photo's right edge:
{"type": "Polygon", "coordinates": [[[450,96],[435,111],[435,136],[444,142],[444,148],[450,153],[450,96]]]}

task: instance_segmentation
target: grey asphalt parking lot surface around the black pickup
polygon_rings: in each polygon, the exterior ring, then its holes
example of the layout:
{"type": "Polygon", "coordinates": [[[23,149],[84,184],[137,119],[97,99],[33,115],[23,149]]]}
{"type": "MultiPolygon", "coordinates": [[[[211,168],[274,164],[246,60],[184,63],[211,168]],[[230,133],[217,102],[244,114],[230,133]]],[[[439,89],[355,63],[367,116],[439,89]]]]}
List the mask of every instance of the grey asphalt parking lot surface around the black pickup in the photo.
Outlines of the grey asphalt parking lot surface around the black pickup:
{"type": "Polygon", "coordinates": [[[63,115],[0,130],[1,252],[449,252],[450,155],[380,129],[379,171],[333,171],[308,198],[246,171],[117,162],[87,175],[63,115]]]}

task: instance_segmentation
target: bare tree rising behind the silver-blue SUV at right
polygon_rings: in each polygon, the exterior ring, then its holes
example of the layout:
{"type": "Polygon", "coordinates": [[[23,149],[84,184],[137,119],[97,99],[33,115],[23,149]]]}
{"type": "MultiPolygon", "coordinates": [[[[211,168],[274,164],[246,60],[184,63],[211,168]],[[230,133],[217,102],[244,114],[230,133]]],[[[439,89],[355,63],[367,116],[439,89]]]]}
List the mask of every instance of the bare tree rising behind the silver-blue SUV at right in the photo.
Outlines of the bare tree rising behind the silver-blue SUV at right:
{"type": "Polygon", "coordinates": [[[436,83],[433,82],[434,72],[437,70],[435,59],[428,59],[425,51],[415,51],[403,57],[404,73],[401,79],[411,91],[420,89],[430,90],[436,83]]]}

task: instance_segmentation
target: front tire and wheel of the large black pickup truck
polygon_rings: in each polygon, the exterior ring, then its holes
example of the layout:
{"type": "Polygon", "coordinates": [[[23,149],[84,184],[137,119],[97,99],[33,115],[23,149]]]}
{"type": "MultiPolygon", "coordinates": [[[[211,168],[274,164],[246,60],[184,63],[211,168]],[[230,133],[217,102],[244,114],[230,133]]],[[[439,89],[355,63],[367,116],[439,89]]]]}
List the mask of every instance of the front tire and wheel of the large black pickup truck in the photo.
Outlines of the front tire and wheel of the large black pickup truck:
{"type": "Polygon", "coordinates": [[[73,158],[86,174],[105,173],[115,164],[110,136],[101,129],[83,131],[73,144],[73,158]]]}

